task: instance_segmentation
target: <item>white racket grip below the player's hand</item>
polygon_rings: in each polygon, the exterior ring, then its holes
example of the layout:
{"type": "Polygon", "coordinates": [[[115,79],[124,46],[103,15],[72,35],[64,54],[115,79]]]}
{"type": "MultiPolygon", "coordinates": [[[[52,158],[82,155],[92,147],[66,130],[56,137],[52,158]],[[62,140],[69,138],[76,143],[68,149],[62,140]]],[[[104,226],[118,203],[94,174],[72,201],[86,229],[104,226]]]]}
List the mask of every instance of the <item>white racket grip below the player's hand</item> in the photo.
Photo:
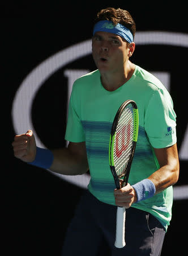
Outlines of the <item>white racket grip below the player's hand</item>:
{"type": "Polygon", "coordinates": [[[125,218],[126,218],[125,207],[118,207],[117,218],[116,218],[116,242],[115,242],[115,246],[117,248],[122,248],[125,246],[125,218]]]}

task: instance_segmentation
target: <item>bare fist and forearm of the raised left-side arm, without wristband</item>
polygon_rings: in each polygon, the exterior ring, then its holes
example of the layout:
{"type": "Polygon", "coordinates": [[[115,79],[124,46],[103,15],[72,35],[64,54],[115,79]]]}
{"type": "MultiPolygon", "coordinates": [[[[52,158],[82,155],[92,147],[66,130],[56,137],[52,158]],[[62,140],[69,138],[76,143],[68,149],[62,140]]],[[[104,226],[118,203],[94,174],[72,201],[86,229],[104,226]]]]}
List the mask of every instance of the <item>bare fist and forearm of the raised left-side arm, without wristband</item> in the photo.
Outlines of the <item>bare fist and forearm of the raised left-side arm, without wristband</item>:
{"type": "MultiPolygon", "coordinates": [[[[31,130],[27,133],[16,135],[14,142],[14,155],[24,162],[33,162],[36,158],[36,142],[31,130]]],[[[84,174],[88,170],[86,143],[70,142],[67,148],[52,150],[53,162],[49,169],[63,175],[84,174]]]]}

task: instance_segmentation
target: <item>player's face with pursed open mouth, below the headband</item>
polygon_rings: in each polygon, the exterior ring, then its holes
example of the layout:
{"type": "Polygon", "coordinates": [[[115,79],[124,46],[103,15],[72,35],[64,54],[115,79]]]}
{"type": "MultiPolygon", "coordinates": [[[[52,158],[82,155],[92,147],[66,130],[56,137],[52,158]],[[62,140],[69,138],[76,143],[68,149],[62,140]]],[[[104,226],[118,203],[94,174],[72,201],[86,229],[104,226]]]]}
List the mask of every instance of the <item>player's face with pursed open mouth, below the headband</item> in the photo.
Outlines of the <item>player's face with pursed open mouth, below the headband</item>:
{"type": "Polygon", "coordinates": [[[101,73],[123,71],[129,47],[121,36],[99,31],[92,38],[92,55],[101,73]]]}

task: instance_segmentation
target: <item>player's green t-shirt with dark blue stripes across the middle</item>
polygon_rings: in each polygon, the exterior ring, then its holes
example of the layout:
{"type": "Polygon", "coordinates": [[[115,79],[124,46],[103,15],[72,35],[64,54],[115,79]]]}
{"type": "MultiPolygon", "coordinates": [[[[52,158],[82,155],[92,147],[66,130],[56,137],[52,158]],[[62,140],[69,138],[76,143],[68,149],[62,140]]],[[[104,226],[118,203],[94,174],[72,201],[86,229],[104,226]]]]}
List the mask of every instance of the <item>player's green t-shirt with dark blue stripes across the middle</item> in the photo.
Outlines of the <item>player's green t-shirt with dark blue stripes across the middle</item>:
{"type": "MultiPolygon", "coordinates": [[[[113,92],[106,90],[99,70],[74,82],[65,139],[86,141],[91,180],[89,191],[100,201],[115,205],[114,179],[109,167],[109,138],[114,116],[126,100],[134,100],[139,111],[139,134],[131,166],[131,185],[159,169],[154,148],[176,143],[176,114],[164,85],[135,65],[129,81],[113,92]]],[[[172,187],[132,207],[152,213],[167,228],[172,214],[172,187]]]]}

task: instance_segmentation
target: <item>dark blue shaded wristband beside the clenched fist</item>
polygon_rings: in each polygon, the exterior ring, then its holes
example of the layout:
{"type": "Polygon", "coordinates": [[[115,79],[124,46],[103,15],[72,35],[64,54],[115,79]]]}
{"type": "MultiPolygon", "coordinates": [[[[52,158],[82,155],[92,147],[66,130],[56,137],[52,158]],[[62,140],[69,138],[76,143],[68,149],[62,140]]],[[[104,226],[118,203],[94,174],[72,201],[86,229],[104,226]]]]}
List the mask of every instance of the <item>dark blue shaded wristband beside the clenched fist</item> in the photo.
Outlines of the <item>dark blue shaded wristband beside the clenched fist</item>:
{"type": "Polygon", "coordinates": [[[52,166],[53,159],[54,156],[51,150],[37,147],[35,160],[28,164],[32,164],[32,166],[37,166],[44,169],[49,169],[50,166],[52,166]]]}

